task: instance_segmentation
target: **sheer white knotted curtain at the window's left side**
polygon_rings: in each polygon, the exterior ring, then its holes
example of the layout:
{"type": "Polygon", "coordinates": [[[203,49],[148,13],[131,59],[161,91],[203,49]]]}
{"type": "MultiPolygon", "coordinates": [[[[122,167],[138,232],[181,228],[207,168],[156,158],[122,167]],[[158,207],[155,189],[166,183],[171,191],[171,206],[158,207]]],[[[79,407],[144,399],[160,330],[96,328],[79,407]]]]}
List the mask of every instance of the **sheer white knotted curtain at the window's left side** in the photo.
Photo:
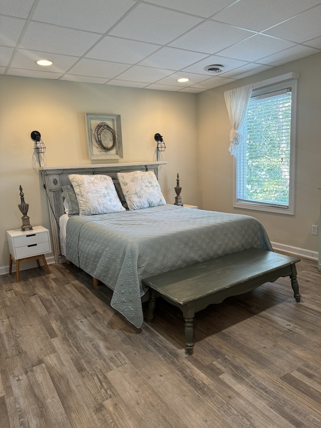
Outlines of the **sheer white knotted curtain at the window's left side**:
{"type": "Polygon", "coordinates": [[[224,92],[227,111],[229,112],[231,122],[230,147],[231,155],[237,157],[237,148],[243,141],[243,135],[239,132],[244,121],[247,106],[249,104],[253,85],[241,86],[224,92]]]}

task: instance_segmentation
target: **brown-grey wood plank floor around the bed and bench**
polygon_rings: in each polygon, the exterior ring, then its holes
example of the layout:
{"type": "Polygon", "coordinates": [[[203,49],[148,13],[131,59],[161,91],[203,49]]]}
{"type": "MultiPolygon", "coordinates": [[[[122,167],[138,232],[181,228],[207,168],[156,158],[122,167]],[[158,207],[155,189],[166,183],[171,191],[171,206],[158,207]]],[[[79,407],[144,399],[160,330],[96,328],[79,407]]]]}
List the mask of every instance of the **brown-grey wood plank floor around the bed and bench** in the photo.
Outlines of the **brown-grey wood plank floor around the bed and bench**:
{"type": "MultiPolygon", "coordinates": [[[[0,426],[321,426],[321,272],[211,305],[184,353],[179,309],[157,300],[135,329],[111,292],[66,264],[0,276],[0,426]]],[[[146,309],[146,304],[144,304],[146,309]]]]}

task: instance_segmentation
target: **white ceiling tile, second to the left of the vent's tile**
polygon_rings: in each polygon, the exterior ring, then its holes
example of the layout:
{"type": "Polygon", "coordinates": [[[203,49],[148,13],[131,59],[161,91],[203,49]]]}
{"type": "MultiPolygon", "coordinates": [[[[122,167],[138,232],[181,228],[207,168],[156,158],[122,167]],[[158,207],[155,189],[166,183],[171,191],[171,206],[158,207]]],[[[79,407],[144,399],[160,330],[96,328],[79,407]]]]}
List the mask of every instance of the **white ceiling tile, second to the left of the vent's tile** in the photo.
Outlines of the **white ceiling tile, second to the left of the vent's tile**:
{"type": "Polygon", "coordinates": [[[87,53],[86,58],[136,64],[160,48],[151,43],[106,36],[87,53]]]}

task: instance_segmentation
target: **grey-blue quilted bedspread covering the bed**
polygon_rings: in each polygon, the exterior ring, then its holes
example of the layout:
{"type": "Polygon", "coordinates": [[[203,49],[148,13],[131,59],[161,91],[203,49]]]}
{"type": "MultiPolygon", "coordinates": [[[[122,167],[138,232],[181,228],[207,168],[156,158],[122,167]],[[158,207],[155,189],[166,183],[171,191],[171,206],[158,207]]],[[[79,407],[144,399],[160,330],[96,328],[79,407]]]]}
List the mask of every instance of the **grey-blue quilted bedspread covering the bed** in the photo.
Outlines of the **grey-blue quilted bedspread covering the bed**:
{"type": "Polygon", "coordinates": [[[67,260],[113,289],[111,306],[137,328],[142,278],[250,247],[272,250],[255,218],[175,205],[67,222],[67,260]]]}

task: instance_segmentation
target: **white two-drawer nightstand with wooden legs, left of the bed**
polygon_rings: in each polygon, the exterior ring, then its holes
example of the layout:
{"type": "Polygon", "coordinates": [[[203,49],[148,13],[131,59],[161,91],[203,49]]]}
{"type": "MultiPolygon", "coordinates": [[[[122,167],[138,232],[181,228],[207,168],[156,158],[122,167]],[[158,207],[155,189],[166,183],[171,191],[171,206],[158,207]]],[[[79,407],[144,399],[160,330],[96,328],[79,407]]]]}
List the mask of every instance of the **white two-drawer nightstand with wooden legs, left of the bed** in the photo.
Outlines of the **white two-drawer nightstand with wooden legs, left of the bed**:
{"type": "Polygon", "coordinates": [[[42,258],[47,273],[50,273],[44,254],[51,252],[49,230],[43,226],[34,226],[32,230],[7,230],[10,251],[9,273],[12,272],[12,262],[17,265],[17,282],[19,282],[20,263],[42,258]]]}

